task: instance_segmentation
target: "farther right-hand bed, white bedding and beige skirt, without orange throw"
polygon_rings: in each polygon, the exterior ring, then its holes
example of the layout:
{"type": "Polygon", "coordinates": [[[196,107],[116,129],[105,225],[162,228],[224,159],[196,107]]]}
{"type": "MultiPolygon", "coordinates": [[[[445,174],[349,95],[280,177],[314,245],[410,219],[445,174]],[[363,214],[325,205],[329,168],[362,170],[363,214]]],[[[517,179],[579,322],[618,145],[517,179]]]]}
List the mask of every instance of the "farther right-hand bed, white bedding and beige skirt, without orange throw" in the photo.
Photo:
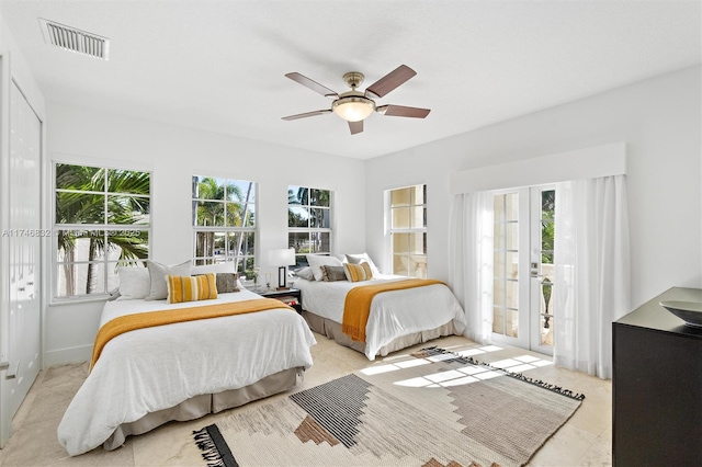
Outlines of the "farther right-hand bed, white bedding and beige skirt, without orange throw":
{"type": "Polygon", "coordinates": [[[463,308],[451,289],[440,284],[383,292],[375,296],[365,343],[352,341],[341,332],[344,300],[351,288],[406,278],[383,274],[363,282],[324,282],[301,277],[295,281],[295,288],[302,293],[303,316],[315,332],[364,353],[371,361],[377,355],[385,356],[442,335],[463,334],[466,327],[463,308]]]}

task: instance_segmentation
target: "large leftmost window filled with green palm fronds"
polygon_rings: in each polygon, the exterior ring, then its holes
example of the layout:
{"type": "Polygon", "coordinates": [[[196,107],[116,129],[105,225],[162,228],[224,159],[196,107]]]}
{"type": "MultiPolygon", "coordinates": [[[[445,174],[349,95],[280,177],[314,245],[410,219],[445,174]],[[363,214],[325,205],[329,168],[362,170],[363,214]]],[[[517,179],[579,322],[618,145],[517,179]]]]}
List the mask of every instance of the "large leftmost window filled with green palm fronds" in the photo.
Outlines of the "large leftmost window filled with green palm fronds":
{"type": "Polygon", "coordinates": [[[117,265],[148,258],[151,175],[124,169],[56,163],[55,297],[105,294],[117,265]]]}

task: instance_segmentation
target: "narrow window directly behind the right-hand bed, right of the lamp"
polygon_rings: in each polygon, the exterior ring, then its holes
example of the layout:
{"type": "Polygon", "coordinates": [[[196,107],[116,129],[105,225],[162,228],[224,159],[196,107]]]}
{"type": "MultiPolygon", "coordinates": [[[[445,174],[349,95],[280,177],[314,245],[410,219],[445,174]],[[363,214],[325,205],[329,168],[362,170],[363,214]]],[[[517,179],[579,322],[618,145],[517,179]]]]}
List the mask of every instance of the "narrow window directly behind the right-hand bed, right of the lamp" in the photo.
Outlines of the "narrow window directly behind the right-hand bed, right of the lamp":
{"type": "Polygon", "coordinates": [[[307,264],[308,253],[331,253],[331,209],[329,190],[287,187],[287,246],[297,265],[307,264]]]}

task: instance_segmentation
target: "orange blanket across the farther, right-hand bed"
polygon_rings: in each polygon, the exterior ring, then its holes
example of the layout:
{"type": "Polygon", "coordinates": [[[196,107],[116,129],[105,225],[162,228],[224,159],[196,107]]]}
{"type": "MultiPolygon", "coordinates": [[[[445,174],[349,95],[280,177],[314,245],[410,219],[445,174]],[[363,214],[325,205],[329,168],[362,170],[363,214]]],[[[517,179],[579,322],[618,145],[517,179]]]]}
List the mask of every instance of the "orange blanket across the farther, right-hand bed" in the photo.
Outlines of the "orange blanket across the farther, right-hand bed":
{"type": "Polygon", "coordinates": [[[347,294],[343,304],[343,320],[341,331],[354,341],[365,342],[365,326],[371,315],[371,301],[375,295],[388,291],[422,287],[424,285],[443,284],[434,278],[408,278],[404,281],[369,284],[354,287],[347,294]]]}

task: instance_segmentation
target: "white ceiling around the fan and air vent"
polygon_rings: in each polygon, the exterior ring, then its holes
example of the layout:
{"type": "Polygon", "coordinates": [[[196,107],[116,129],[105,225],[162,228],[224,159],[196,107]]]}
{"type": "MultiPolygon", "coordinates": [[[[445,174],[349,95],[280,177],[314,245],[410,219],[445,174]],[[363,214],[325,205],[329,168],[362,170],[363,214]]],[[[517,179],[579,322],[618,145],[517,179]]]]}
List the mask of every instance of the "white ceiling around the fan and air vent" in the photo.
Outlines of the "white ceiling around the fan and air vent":
{"type": "Polygon", "coordinates": [[[700,1],[0,0],[44,95],[325,153],[369,159],[701,62],[700,1]],[[38,19],[111,39],[110,60],[44,42],[38,19]],[[347,71],[365,89],[405,64],[417,76],[350,135],[330,100],[347,71]]]}

